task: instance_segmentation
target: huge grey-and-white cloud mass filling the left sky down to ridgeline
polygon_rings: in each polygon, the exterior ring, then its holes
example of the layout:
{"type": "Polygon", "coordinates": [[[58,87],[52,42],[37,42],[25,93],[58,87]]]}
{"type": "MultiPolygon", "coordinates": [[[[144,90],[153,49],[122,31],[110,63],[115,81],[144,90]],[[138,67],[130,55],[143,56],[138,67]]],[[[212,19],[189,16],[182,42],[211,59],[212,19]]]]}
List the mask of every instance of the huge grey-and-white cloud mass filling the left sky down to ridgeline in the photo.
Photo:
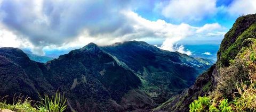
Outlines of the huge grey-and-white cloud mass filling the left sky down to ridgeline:
{"type": "MultiPolygon", "coordinates": [[[[0,46],[10,46],[13,41],[10,47],[29,47],[39,55],[44,55],[42,49],[81,47],[89,42],[109,45],[143,38],[163,39],[162,49],[191,55],[189,50],[175,44],[189,36],[220,35],[217,31],[223,28],[218,23],[193,27],[160,19],[150,21],[135,13],[129,7],[130,1],[3,0],[0,3],[3,25],[0,46]]],[[[195,15],[193,18],[204,16],[195,15]]]]}

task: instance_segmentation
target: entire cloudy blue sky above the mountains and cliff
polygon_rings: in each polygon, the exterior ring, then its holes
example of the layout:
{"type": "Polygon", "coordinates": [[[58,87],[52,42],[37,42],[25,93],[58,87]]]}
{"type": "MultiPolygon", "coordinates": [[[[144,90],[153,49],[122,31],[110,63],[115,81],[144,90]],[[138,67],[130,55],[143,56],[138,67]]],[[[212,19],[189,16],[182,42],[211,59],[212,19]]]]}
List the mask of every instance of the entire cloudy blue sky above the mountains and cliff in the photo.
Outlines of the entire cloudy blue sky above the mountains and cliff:
{"type": "Polygon", "coordinates": [[[256,0],[0,0],[0,47],[43,56],[138,40],[191,55],[184,46],[219,45],[239,16],[254,13],[256,0]]]}

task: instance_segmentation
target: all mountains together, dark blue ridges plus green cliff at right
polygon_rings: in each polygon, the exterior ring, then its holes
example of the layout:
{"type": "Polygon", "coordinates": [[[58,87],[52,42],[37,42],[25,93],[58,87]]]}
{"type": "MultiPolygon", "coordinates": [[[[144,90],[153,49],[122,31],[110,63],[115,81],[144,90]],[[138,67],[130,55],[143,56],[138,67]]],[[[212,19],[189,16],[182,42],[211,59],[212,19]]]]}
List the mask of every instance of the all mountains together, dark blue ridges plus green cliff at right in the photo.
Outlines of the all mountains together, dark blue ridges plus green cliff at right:
{"type": "Polygon", "coordinates": [[[143,41],[90,43],[46,63],[0,48],[0,95],[59,90],[67,111],[256,111],[255,49],[256,14],[236,20],[215,64],[143,41]]]}

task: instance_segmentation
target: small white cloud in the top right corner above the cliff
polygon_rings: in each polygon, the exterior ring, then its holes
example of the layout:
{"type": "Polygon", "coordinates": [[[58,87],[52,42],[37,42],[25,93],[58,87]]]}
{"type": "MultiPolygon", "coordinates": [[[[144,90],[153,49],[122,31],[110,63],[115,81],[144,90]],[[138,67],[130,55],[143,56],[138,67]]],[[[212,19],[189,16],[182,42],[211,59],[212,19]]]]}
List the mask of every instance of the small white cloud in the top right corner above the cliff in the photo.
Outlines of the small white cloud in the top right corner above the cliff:
{"type": "Polygon", "coordinates": [[[231,15],[246,15],[256,13],[255,0],[235,0],[228,7],[227,10],[231,15]]]}

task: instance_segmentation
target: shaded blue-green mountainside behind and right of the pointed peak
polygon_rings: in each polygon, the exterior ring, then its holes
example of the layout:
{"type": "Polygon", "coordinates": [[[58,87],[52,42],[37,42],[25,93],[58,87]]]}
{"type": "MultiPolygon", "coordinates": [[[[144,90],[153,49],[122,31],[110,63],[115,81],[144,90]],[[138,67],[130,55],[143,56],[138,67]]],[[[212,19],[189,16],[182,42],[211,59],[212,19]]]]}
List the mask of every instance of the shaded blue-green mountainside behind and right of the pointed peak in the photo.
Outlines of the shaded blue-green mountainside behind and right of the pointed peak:
{"type": "Polygon", "coordinates": [[[101,49],[139,74],[144,81],[143,87],[157,102],[189,87],[198,74],[212,64],[209,60],[162,50],[141,41],[116,43],[101,49]]]}

